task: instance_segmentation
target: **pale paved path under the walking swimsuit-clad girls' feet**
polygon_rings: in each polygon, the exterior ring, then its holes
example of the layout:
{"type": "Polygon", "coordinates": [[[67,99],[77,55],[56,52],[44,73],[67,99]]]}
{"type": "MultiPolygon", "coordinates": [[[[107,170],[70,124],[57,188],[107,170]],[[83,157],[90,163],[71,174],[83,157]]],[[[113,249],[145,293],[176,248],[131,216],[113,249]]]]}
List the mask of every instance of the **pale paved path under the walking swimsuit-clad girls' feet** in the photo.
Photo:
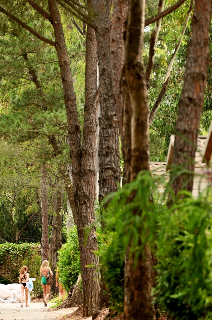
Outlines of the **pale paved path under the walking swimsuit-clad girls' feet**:
{"type": "MultiPolygon", "coordinates": [[[[0,320],[59,320],[60,316],[72,313],[76,308],[53,311],[49,304],[30,303],[20,308],[20,303],[0,303],[0,320]]],[[[62,318],[62,317],[61,317],[62,318]]]]}

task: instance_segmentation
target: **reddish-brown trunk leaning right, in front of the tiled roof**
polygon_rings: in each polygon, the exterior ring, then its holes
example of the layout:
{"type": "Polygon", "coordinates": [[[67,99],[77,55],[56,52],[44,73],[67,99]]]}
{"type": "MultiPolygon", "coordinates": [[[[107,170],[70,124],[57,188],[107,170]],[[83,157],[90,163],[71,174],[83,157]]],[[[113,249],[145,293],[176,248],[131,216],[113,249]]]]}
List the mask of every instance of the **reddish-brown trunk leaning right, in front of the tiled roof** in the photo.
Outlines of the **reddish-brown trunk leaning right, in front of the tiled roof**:
{"type": "MultiPolygon", "coordinates": [[[[208,68],[208,33],[211,20],[212,1],[196,0],[192,19],[192,36],[188,45],[186,72],[176,125],[172,153],[173,167],[194,172],[194,158],[199,134],[200,116],[204,102],[205,82],[208,68]]],[[[193,174],[182,173],[175,177],[171,170],[172,189],[176,195],[180,190],[192,191],[193,174]]]]}

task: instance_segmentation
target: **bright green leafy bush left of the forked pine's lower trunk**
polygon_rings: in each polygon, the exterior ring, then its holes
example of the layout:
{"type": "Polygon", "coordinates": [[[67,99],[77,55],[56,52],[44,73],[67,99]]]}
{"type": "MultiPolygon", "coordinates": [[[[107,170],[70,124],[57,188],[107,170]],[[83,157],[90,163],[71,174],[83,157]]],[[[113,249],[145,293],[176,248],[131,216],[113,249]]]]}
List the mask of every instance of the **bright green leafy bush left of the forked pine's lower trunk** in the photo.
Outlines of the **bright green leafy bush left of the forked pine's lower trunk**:
{"type": "Polygon", "coordinates": [[[64,288],[69,292],[76,284],[80,268],[79,243],[77,228],[73,227],[68,235],[68,240],[62,245],[58,254],[59,279],[64,288]]]}

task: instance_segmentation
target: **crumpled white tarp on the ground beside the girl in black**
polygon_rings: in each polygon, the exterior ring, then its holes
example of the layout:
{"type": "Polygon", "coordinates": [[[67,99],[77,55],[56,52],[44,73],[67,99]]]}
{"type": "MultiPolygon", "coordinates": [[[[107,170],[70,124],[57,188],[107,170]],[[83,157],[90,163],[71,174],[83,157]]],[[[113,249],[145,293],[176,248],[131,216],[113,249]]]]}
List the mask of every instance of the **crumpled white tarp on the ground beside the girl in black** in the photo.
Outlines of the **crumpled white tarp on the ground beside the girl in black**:
{"type": "MultiPolygon", "coordinates": [[[[25,301],[25,290],[24,300],[25,301]]],[[[30,293],[28,293],[28,301],[30,301],[30,293]]],[[[21,302],[21,286],[19,283],[0,284],[0,303],[20,303],[21,302]]]]}

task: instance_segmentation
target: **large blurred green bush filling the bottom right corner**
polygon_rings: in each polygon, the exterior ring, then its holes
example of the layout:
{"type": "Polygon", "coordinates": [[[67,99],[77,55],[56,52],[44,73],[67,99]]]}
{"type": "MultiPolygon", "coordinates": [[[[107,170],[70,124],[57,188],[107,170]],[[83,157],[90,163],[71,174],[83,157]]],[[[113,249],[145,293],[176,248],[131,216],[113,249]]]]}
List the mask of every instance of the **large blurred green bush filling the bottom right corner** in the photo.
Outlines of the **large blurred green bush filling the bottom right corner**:
{"type": "Polygon", "coordinates": [[[156,301],[175,320],[212,318],[212,204],[184,197],[160,216],[156,301]]]}

